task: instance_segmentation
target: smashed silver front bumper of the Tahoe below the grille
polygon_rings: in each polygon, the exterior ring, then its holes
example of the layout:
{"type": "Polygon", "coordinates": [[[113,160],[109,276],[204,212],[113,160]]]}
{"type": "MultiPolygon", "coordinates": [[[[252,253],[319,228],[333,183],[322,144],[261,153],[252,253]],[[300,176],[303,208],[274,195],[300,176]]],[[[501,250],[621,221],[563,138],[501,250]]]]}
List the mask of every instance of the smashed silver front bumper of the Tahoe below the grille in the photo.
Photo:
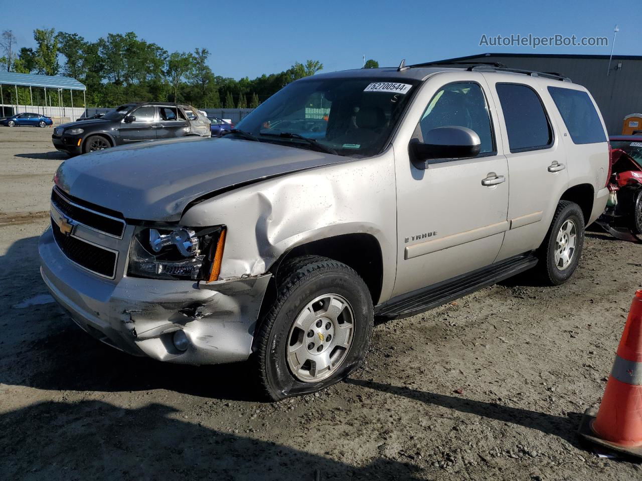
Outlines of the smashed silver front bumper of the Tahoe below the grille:
{"type": "Polygon", "coordinates": [[[271,274],[205,285],[193,281],[98,278],[70,262],[51,229],[39,241],[40,273],[53,297],[92,336],[134,355],[181,364],[249,357],[271,274]],[[189,340],[173,344],[175,331],[189,340]]]}

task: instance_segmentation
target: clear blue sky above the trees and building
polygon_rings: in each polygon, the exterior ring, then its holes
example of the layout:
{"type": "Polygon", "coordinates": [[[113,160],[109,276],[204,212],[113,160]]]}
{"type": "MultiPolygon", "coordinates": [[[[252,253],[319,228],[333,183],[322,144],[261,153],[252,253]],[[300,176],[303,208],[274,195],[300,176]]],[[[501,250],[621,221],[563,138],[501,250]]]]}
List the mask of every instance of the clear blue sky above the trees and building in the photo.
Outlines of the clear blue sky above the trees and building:
{"type": "Polygon", "coordinates": [[[3,2],[0,30],[33,47],[34,28],[76,32],[87,40],[134,31],[169,52],[207,47],[216,75],[254,78],[311,58],[324,71],[381,66],[485,52],[642,55],[642,9],[635,1],[91,1],[3,2]],[[29,6],[27,6],[29,5],[29,6]],[[58,5],[58,6],[55,6],[58,5]],[[75,5],[75,6],[74,6],[75,5]],[[487,47],[487,36],[605,36],[608,47],[487,47]]]}

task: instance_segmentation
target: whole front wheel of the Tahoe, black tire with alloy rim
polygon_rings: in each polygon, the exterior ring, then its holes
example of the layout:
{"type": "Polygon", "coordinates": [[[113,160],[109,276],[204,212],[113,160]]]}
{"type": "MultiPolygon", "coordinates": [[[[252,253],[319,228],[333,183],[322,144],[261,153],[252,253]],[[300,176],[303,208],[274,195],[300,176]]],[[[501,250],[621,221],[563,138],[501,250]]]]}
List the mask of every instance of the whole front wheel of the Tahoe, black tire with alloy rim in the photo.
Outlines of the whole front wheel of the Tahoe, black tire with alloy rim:
{"type": "Polygon", "coordinates": [[[299,257],[279,271],[253,355],[259,383],[273,401],[348,376],[365,355],[374,318],[367,285],[341,262],[299,257]]]}

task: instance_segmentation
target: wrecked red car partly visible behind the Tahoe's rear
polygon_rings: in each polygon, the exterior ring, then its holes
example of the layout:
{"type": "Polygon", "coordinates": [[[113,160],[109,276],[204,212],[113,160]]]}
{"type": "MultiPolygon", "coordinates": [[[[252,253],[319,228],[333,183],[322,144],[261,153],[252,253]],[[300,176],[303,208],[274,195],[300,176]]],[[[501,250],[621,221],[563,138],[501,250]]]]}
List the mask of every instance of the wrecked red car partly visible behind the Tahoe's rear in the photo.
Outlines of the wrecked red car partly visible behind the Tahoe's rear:
{"type": "Polygon", "coordinates": [[[642,242],[642,135],[614,135],[609,202],[598,219],[611,235],[642,242]]]}

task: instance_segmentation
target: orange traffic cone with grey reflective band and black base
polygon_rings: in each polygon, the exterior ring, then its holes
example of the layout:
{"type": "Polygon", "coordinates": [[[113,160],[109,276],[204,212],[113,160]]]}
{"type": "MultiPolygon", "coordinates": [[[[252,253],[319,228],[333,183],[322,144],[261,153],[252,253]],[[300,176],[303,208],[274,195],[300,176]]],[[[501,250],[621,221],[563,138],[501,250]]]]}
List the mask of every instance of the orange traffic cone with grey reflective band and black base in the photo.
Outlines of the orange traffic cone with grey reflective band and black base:
{"type": "Polygon", "coordinates": [[[636,292],[597,416],[587,410],[580,435],[642,457],[642,289],[636,292]]]}

